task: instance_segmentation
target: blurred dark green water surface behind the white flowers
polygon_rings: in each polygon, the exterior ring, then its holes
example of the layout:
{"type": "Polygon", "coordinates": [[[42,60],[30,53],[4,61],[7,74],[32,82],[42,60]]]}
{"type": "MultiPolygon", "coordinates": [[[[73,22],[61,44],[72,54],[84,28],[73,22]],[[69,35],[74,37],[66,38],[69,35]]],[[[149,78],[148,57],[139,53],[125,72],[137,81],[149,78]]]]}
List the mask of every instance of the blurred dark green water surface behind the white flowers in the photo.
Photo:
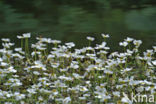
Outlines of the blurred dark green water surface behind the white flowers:
{"type": "Polygon", "coordinates": [[[149,5],[148,2],[132,4],[128,0],[121,0],[120,5],[107,0],[67,1],[0,2],[0,38],[9,37],[19,44],[16,35],[31,32],[31,42],[36,36],[51,37],[63,42],[73,41],[79,48],[87,46],[86,36],[95,37],[95,45],[102,41],[101,33],[108,33],[112,50],[117,50],[118,42],[127,36],[141,39],[143,50],[156,45],[154,0],[149,5]]]}

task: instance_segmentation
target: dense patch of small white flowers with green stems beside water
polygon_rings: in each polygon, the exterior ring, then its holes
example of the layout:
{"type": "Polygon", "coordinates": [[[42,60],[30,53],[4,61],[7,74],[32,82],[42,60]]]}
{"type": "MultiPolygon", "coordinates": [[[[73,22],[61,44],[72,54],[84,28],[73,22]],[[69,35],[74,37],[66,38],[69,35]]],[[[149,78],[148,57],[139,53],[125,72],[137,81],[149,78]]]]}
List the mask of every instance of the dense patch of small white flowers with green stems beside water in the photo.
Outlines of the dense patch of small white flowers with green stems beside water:
{"type": "Polygon", "coordinates": [[[128,37],[119,43],[123,52],[110,53],[109,35],[102,34],[104,41],[95,47],[75,49],[73,42],[37,37],[30,48],[30,37],[17,36],[17,48],[1,39],[0,103],[130,104],[123,92],[156,96],[156,46],[140,53],[142,41],[128,37]]]}

